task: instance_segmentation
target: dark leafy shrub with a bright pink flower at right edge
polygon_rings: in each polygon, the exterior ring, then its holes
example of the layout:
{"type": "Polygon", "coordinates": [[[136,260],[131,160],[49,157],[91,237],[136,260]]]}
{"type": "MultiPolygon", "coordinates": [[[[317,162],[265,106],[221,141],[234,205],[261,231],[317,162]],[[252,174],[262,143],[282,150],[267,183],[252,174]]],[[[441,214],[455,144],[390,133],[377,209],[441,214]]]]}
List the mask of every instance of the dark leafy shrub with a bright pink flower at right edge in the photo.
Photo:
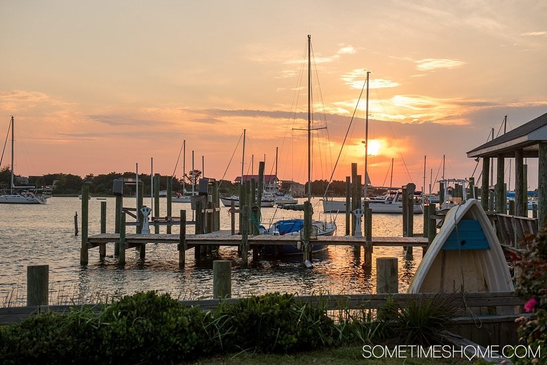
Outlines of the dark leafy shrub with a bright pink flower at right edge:
{"type": "MultiPolygon", "coordinates": [[[[525,238],[527,250],[511,256],[515,263],[515,272],[519,277],[517,295],[526,302],[524,309],[535,317],[520,317],[520,341],[533,348],[542,348],[545,352],[547,339],[547,225],[537,236],[525,238]]],[[[517,364],[547,363],[546,358],[515,359],[517,364]]]]}

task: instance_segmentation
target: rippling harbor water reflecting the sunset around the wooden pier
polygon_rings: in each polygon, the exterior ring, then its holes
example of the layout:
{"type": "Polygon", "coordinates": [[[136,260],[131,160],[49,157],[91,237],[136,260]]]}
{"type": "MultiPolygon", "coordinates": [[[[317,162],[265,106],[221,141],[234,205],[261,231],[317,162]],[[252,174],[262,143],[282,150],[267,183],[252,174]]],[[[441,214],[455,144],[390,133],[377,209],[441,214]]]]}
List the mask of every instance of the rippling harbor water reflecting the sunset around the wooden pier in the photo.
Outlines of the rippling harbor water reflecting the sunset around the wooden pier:
{"type": "MultiPolygon", "coordinates": [[[[107,232],[114,232],[115,198],[107,198],[107,232]]],[[[312,199],[313,208],[321,209],[319,199],[312,199]],[[319,205],[318,205],[319,204],[319,205]]],[[[374,293],[376,291],[376,257],[398,257],[399,292],[406,291],[420,263],[421,249],[406,255],[400,247],[378,247],[373,253],[373,268],[362,268],[364,253],[354,255],[351,246],[330,246],[313,255],[313,269],[302,267],[301,257],[267,258],[241,268],[236,248],[221,247],[217,254],[199,261],[193,250],[187,251],[184,269],[178,266],[174,244],[147,244],[146,260],[141,262],[135,249],[126,252],[126,264],[121,267],[113,257],[114,244],[107,245],[107,257],[100,261],[98,248],[89,250],[88,266],[80,266],[81,238],[74,236],[74,214],[78,213],[81,228],[82,201],[77,197],[53,197],[48,204],[0,204],[0,305],[24,305],[26,302],[26,267],[49,265],[50,303],[65,304],[96,301],[107,297],[158,290],[179,299],[212,298],[213,260],[232,262],[232,297],[260,295],[267,292],[288,292],[311,295],[374,293]]],[[[144,199],[150,205],[150,198],[144,199]]],[[[135,207],[135,198],[124,198],[124,207],[135,207]]],[[[189,203],[173,203],[173,215],[187,209],[189,203]]],[[[230,229],[228,209],[220,211],[221,229],[230,229]]],[[[301,212],[263,208],[263,223],[272,218],[301,217],[301,212]]],[[[89,235],[100,233],[101,201],[89,201],[89,235]]],[[[160,215],[166,215],[166,201],[160,199],[160,215]]],[[[335,219],[336,235],[345,234],[344,214],[316,213],[315,219],[335,219]]],[[[236,223],[237,225],[237,223],[236,223]]],[[[373,215],[373,236],[402,236],[402,217],[398,214],[373,215]]],[[[422,232],[423,217],[414,215],[415,232],[422,232]]],[[[134,232],[128,227],[127,232],[134,232]]],[[[188,226],[193,233],[193,226],[188,226]]],[[[166,226],[160,227],[166,232],[166,226]]],[[[172,227],[178,233],[178,225],[172,227]]]]}

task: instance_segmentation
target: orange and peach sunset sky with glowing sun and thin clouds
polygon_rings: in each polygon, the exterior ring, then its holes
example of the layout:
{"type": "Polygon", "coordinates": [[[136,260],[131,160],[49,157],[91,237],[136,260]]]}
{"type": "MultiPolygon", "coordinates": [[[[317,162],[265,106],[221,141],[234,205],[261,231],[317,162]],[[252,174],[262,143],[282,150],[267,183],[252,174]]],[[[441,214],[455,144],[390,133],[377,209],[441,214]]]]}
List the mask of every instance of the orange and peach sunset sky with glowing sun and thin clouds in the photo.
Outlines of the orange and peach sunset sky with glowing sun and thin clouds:
{"type": "Polygon", "coordinates": [[[547,113],[545,19],[531,0],[0,0],[0,136],[14,115],[24,176],[180,177],[194,153],[235,180],[245,129],[244,174],[265,160],[305,182],[310,34],[312,180],[364,173],[370,71],[371,182],[419,189],[472,176],[466,152],[506,115],[510,130],[547,113]]]}

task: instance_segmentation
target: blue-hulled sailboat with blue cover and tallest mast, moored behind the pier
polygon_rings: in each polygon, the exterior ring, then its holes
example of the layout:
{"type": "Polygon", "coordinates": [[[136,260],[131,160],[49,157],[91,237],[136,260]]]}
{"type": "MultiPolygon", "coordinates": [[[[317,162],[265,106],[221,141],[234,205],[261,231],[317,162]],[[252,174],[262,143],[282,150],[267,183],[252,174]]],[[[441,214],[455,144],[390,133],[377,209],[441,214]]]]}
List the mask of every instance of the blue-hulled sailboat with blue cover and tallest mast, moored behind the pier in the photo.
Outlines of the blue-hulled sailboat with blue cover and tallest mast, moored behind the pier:
{"type": "MultiPolygon", "coordinates": [[[[311,36],[308,36],[308,123],[307,123],[307,151],[308,151],[308,180],[307,180],[307,202],[311,202],[311,36]]],[[[291,204],[278,206],[280,209],[304,210],[304,205],[291,204]]],[[[313,213],[312,213],[313,214],[313,213]]],[[[336,231],[334,221],[316,221],[312,220],[312,229],[317,231],[317,236],[333,236],[336,231]]],[[[275,222],[264,234],[281,235],[291,234],[299,235],[304,227],[304,219],[285,219],[275,222]]],[[[324,251],[327,245],[312,245],[312,252],[324,251]]],[[[297,245],[271,245],[263,250],[265,255],[301,255],[302,250],[297,245]]]]}

